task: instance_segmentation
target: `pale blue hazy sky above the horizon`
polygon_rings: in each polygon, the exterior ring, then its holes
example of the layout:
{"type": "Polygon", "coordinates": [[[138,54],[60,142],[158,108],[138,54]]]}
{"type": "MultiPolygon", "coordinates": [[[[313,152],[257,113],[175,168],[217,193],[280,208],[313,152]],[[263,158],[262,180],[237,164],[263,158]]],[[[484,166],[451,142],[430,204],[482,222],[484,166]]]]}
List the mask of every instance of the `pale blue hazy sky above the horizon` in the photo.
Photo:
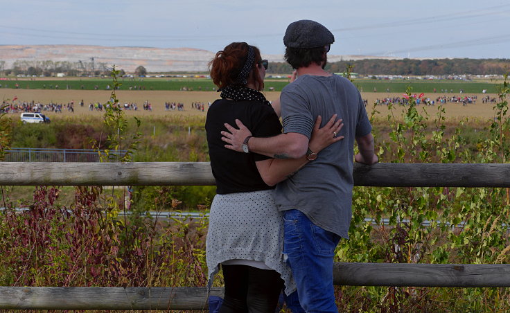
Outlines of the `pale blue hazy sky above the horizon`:
{"type": "MultiPolygon", "coordinates": [[[[292,21],[335,35],[330,55],[510,58],[509,0],[0,0],[0,44],[200,48],[283,54],[292,21]]],[[[1,60],[1,55],[0,55],[1,60]]]]}

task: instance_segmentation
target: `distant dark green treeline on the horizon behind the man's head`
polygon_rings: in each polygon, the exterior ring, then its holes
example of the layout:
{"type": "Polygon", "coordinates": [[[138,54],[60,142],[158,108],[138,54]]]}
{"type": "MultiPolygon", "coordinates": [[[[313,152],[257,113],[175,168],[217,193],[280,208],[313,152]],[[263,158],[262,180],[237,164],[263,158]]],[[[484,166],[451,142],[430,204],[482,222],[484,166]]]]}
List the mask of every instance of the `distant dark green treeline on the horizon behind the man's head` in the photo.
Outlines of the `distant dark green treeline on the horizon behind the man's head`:
{"type": "MultiPolygon", "coordinates": [[[[510,71],[510,59],[365,59],[328,63],[326,71],[342,73],[347,66],[362,75],[502,75],[510,71]]],[[[285,62],[271,62],[269,72],[288,74],[292,68],[285,62]]]]}

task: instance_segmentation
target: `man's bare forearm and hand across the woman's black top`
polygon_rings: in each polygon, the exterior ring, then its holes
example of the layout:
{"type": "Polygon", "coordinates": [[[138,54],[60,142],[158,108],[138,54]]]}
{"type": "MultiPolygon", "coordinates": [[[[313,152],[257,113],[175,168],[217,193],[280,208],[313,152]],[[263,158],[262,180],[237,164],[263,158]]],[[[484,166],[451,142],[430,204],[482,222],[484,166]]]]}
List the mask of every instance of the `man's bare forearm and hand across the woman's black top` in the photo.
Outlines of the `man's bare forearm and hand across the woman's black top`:
{"type": "MultiPolygon", "coordinates": [[[[251,136],[252,132],[236,120],[239,129],[225,123],[228,132],[222,131],[222,141],[225,141],[228,149],[243,152],[243,141],[247,136],[251,136]]],[[[252,137],[248,141],[250,152],[270,156],[274,159],[299,159],[306,154],[308,150],[308,137],[303,134],[290,132],[287,134],[279,134],[267,138],[252,137]]]]}

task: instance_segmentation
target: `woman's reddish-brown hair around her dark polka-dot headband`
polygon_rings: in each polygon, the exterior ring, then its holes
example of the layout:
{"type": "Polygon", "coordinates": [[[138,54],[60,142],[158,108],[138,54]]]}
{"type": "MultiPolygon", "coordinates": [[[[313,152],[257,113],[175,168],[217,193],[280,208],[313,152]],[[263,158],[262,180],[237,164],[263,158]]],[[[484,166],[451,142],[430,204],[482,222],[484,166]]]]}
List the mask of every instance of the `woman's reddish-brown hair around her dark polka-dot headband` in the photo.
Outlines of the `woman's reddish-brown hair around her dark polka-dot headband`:
{"type": "MultiPolygon", "coordinates": [[[[241,69],[245,66],[248,47],[249,45],[246,42],[232,42],[222,51],[218,51],[213,60],[209,62],[211,78],[218,88],[225,88],[230,85],[245,86],[237,82],[237,79],[241,69]]],[[[254,49],[255,60],[246,80],[247,82],[254,82],[255,86],[263,89],[264,81],[256,71],[256,67],[261,66],[261,51],[256,46],[252,46],[252,48],[254,49]]]]}

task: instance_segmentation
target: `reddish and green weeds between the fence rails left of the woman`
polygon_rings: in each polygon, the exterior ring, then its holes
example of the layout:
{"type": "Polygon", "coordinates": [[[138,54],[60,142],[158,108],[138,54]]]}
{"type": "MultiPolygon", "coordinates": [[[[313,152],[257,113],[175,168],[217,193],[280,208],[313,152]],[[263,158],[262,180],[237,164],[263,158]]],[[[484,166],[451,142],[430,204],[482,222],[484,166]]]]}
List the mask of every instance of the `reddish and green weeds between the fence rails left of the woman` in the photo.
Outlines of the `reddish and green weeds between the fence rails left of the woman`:
{"type": "Polygon", "coordinates": [[[1,285],[203,286],[204,220],[127,223],[100,204],[101,189],[77,187],[76,203],[55,206],[57,188],[39,187],[28,211],[2,211],[1,285]],[[125,229],[129,227],[129,233],[125,229]]]}

